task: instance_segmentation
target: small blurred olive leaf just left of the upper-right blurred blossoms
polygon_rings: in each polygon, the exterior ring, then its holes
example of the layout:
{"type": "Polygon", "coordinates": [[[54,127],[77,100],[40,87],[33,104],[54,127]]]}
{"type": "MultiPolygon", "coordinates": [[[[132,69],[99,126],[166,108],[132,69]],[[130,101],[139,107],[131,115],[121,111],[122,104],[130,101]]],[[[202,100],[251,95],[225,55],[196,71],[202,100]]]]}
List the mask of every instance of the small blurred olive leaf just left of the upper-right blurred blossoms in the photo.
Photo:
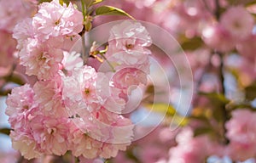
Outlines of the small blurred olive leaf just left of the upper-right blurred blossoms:
{"type": "Polygon", "coordinates": [[[203,45],[203,41],[200,37],[193,37],[191,39],[186,39],[182,42],[181,47],[183,50],[195,50],[203,45]]]}

